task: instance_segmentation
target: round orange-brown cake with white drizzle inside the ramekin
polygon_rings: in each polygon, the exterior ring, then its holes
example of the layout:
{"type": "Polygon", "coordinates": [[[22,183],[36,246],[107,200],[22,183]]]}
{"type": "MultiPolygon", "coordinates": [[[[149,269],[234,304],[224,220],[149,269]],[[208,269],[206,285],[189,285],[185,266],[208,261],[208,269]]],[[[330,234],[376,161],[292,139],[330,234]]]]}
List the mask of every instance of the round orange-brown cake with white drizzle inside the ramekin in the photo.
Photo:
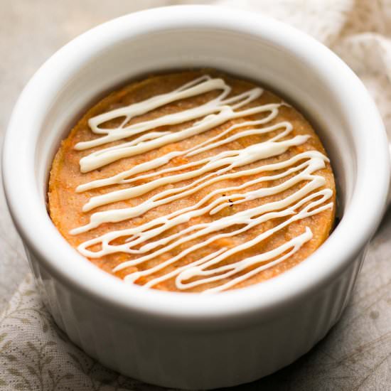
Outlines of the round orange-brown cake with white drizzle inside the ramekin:
{"type": "Polygon", "coordinates": [[[129,284],[165,291],[276,277],[326,240],[335,205],[311,124],[215,70],[152,75],[109,94],[62,141],[48,189],[70,245],[129,284]]]}

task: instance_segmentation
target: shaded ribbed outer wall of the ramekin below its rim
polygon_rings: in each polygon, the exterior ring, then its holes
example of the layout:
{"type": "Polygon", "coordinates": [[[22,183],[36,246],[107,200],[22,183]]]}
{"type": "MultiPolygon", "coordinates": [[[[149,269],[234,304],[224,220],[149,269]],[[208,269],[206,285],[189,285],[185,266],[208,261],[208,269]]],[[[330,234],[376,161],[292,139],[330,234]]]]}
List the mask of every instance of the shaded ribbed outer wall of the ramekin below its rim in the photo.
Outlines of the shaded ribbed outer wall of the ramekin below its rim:
{"type": "Polygon", "coordinates": [[[166,387],[211,389],[239,385],[283,368],[309,351],[346,307],[364,251],[337,279],[267,321],[238,328],[191,330],[139,325],[117,318],[60,283],[26,249],[41,296],[55,322],[93,358],[119,373],[166,387]]]}

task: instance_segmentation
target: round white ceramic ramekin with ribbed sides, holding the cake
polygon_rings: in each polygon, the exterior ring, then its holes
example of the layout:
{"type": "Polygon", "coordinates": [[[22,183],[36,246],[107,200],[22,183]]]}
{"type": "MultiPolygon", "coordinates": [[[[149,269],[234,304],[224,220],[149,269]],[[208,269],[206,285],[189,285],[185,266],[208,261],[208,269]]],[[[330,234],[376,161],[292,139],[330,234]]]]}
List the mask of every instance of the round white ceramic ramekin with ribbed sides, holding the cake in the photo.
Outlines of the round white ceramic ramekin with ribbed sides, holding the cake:
{"type": "Polygon", "coordinates": [[[377,109],[336,55],[272,19],[210,6],[123,16],[65,45],[23,90],[3,159],[9,209],[58,326],[120,373],[203,389],[272,373],[326,335],[380,223],[390,178],[377,109]],[[61,237],[45,205],[48,168],[97,97],[145,73],[201,66],[259,80],[307,114],[331,156],[341,222],[309,259],[263,284],[215,295],[144,291],[61,237]]]}

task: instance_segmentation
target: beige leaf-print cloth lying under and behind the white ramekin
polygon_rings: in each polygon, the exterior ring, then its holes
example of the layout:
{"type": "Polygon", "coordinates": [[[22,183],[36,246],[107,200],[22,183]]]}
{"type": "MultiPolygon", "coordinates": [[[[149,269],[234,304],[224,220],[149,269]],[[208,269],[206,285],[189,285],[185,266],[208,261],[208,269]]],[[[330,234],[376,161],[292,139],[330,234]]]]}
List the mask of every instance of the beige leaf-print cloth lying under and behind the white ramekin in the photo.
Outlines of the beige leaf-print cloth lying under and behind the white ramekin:
{"type": "MultiPolygon", "coordinates": [[[[391,134],[391,0],[240,0],[224,6],[262,11],[326,43],[361,77],[391,134]]],[[[370,132],[370,129],[368,129],[370,132]]],[[[390,390],[391,273],[377,235],[343,318],[294,365],[247,388],[390,390]]],[[[386,247],[383,248],[383,250],[386,247]]],[[[0,390],[152,390],[107,370],[53,323],[30,276],[0,316],[0,390]]]]}

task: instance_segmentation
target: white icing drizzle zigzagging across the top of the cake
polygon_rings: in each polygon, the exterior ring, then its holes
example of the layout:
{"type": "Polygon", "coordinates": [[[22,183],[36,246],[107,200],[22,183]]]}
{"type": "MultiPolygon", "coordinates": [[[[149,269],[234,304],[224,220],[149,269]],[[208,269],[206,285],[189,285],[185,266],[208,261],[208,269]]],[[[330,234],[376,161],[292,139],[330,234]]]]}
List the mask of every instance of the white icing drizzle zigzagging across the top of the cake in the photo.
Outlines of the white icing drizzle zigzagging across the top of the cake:
{"type": "Polygon", "coordinates": [[[151,161],[132,166],[117,175],[100,178],[78,186],[77,192],[85,192],[119,184],[129,185],[117,191],[108,191],[105,194],[91,197],[83,206],[83,211],[87,212],[102,205],[110,205],[121,200],[129,200],[145,195],[172,183],[186,182],[178,187],[161,190],[159,193],[146,198],[139,205],[92,213],[90,222],[87,225],[73,229],[70,232],[73,235],[93,230],[103,223],[131,220],[160,205],[173,203],[188,195],[198,193],[220,181],[252,176],[252,179],[240,185],[210,191],[194,205],[178,208],[168,213],[168,215],[154,218],[138,226],[122,230],[110,230],[104,235],[87,240],[78,247],[82,255],[98,258],[122,252],[137,256],[117,265],[113,272],[118,272],[139,264],[145,265],[145,262],[174,250],[177,252],[176,255],[159,264],[146,267],[144,270],[129,272],[124,280],[129,283],[136,283],[141,277],[154,275],[143,285],[144,287],[153,287],[167,279],[175,279],[176,287],[180,290],[213,283],[213,287],[205,289],[204,292],[215,292],[229,289],[262,272],[262,270],[283,262],[284,259],[293,255],[306,242],[311,240],[313,234],[309,227],[306,227],[303,233],[273,250],[229,262],[230,257],[237,259],[240,252],[258,245],[262,240],[294,221],[333,208],[333,203],[330,201],[333,191],[324,187],[326,180],[323,176],[316,175],[316,171],[325,168],[326,162],[328,162],[326,156],[320,152],[305,151],[284,161],[254,166],[255,163],[263,159],[284,154],[291,146],[299,146],[309,139],[309,136],[304,135],[287,138],[293,129],[290,122],[279,122],[264,126],[277,117],[279,107],[285,104],[275,103],[248,107],[248,104],[262,95],[263,90],[258,87],[233,97],[229,97],[230,92],[231,87],[223,79],[204,75],[172,92],[157,95],[127,107],[114,109],[89,120],[88,123],[92,132],[101,136],[97,139],[80,142],[75,146],[75,149],[85,150],[112,141],[128,139],[132,136],[134,138],[131,141],[122,141],[115,146],[102,148],[83,157],[80,159],[80,170],[82,172],[92,171],[119,159],[143,154],[146,151],[152,151],[167,144],[188,139],[191,136],[218,127],[231,119],[264,113],[262,119],[234,124],[190,149],[171,151],[151,161]],[[195,97],[214,90],[221,90],[218,97],[203,105],[183,109],[173,114],[164,114],[148,121],[129,124],[129,121],[136,116],[146,114],[171,102],[195,97]],[[104,127],[105,122],[119,118],[124,118],[119,127],[113,129],[104,127]],[[191,123],[188,127],[175,132],[156,131],[156,128],[162,126],[187,122],[191,123]],[[223,151],[175,167],[164,167],[178,156],[189,158],[246,136],[271,132],[277,135],[242,149],[223,151]],[[151,170],[154,170],[154,172],[149,172],[151,170]],[[178,171],[182,172],[178,173],[178,171]],[[269,171],[274,173],[269,175],[269,171]],[[259,175],[261,173],[263,175],[259,175]],[[274,181],[281,179],[284,179],[284,181],[279,181],[278,184],[273,185],[274,181]],[[132,184],[138,181],[143,182],[136,185],[132,184]],[[262,183],[268,182],[271,182],[272,186],[254,188],[256,185],[262,186],[262,183]],[[297,186],[298,184],[300,186],[297,186]],[[251,200],[277,195],[289,191],[294,186],[296,186],[295,191],[288,192],[288,195],[279,200],[240,210],[220,218],[216,217],[217,213],[232,205],[240,205],[251,200]],[[252,190],[249,190],[250,187],[252,190]],[[208,223],[193,224],[185,229],[175,230],[179,225],[188,223],[192,218],[202,215],[210,215],[215,218],[208,223]],[[231,237],[235,242],[235,237],[240,233],[279,218],[284,218],[282,223],[276,223],[274,227],[261,231],[259,235],[247,242],[237,241],[238,243],[233,247],[223,247],[189,264],[173,267],[176,262],[186,259],[188,255],[197,250],[205,250],[208,249],[209,245],[213,246],[213,242],[217,240],[231,237]],[[168,230],[171,229],[174,229],[174,233],[168,233],[168,230]],[[194,242],[195,244],[193,244],[194,242]],[[183,248],[184,245],[187,245],[187,247],[183,248]]]}

